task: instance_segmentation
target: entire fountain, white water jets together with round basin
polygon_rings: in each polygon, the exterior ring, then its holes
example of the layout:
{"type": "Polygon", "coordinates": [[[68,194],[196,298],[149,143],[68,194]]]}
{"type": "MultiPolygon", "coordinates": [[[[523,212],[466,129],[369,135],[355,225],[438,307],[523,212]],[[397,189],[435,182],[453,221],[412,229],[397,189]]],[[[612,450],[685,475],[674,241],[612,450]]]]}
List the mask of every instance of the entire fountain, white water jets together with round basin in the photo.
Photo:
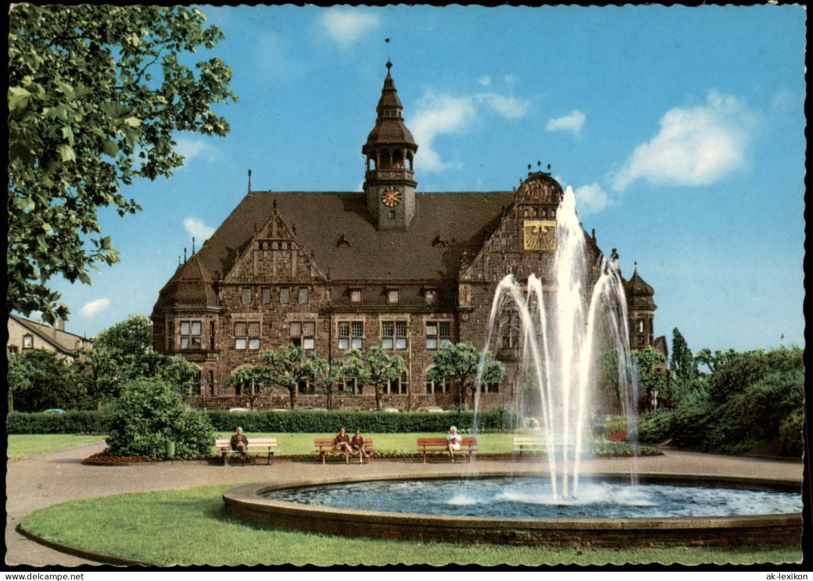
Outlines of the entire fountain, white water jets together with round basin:
{"type": "Polygon", "coordinates": [[[486,469],[474,462],[446,472],[409,466],[400,474],[250,484],[224,493],[228,510],[265,527],[422,541],[608,547],[798,543],[802,501],[795,480],[650,472],[637,486],[634,459],[610,470],[584,470],[598,353],[615,353],[617,399],[633,446],[637,374],[617,259],[598,254],[593,262],[585,253],[569,188],[556,218],[550,274],[530,274],[524,285],[506,275],[498,283],[475,396],[477,409],[494,333],[515,325],[511,336],[521,345],[515,358],[516,410],[541,419],[546,465],[492,462],[486,469]],[[526,394],[533,397],[526,400],[526,394]]]}

